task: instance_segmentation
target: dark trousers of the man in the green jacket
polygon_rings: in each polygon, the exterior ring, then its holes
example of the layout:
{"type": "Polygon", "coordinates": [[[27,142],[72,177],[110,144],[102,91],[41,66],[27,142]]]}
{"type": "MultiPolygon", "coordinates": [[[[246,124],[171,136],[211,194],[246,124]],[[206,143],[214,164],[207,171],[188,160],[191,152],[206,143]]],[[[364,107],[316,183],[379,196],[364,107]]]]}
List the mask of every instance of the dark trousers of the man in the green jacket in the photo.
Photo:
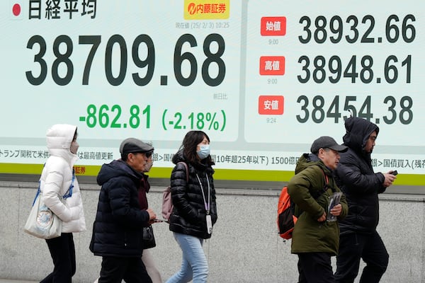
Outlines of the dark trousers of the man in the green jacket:
{"type": "Polygon", "coordinates": [[[334,283],[330,253],[299,253],[298,283],[334,283]]]}

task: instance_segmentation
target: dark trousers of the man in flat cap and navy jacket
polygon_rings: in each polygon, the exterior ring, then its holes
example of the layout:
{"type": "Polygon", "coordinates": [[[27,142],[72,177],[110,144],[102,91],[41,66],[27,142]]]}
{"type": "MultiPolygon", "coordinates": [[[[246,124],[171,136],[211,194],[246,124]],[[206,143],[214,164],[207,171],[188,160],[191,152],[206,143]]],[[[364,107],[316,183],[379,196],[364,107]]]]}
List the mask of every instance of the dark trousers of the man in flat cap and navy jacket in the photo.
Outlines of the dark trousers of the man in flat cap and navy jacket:
{"type": "Polygon", "coordinates": [[[98,283],[152,283],[142,258],[102,258],[101,278],[98,283]]]}

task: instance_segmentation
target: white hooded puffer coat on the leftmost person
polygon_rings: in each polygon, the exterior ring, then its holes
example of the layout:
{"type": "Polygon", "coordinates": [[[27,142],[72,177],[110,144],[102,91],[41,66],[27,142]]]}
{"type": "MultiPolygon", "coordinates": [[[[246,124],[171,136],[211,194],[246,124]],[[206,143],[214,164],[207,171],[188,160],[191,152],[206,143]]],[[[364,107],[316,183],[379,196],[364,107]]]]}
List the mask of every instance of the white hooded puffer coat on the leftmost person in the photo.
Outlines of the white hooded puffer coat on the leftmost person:
{"type": "Polygon", "coordinates": [[[62,233],[86,231],[83,202],[77,178],[74,178],[72,197],[62,200],[72,184],[72,167],[77,155],[70,151],[77,127],[58,124],[47,130],[47,159],[40,178],[42,200],[62,219],[62,233]]]}

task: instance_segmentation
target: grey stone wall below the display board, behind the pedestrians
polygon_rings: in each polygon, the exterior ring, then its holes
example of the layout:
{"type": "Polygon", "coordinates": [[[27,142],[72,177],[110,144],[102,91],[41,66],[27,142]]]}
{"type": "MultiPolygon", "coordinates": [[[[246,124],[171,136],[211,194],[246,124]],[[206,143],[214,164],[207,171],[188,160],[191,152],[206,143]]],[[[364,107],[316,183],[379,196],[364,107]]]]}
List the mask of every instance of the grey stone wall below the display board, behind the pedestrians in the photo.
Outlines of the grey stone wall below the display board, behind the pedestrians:
{"type": "MultiPolygon", "coordinates": [[[[45,241],[23,232],[37,185],[0,182],[0,278],[40,281],[52,271],[45,241]]],[[[101,258],[89,251],[99,187],[80,186],[88,229],[74,233],[73,282],[93,282],[101,267],[101,258]]],[[[153,187],[148,195],[157,214],[162,190],[153,187]]],[[[290,241],[283,242],[276,232],[278,191],[217,189],[217,194],[219,219],[204,245],[208,282],[297,282],[297,257],[290,254],[290,241]]],[[[424,216],[425,196],[381,196],[378,231],[390,253],[382,282],[425,283],[424,216]]],[[[151,252],[165,281],[179,269],[181,251],[167,224],[154,224],[154,233],[157,247],[151,252]]]]}

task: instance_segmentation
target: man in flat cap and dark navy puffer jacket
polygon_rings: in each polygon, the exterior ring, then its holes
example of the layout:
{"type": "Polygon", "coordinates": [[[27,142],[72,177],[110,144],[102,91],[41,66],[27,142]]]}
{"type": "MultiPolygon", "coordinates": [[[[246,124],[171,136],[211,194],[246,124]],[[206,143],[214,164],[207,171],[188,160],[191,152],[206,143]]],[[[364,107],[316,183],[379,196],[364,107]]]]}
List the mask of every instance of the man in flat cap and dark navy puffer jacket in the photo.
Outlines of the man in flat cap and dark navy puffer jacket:
{"type": "Polygon", "coordinates": [[[121,159],[103,164],[97,176],[101,185],[90,250],[102,257],[99,283],[152,283],[142,262],[142,227],[157,216],[140,210],[138,189],[154,148],[139,139],[125,139],[121,159]]]}

